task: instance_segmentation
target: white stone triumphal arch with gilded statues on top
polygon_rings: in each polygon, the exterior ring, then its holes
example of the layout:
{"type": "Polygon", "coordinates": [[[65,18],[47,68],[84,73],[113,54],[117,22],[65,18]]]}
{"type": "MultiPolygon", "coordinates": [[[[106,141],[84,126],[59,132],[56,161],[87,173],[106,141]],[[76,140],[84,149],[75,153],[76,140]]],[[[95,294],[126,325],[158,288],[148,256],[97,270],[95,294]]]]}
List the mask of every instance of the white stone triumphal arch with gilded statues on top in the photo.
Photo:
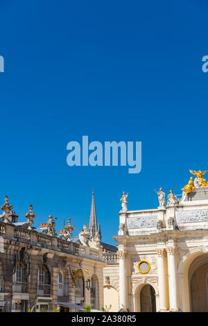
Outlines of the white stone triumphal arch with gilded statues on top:
{"type": "Polygon", "coordinates": [[[103,275],[114,311],[208,311],[208,182],[190,172],[182,197],[156,191],[155,209],[128,210],[123,192],[118,252],[103,275]]]}

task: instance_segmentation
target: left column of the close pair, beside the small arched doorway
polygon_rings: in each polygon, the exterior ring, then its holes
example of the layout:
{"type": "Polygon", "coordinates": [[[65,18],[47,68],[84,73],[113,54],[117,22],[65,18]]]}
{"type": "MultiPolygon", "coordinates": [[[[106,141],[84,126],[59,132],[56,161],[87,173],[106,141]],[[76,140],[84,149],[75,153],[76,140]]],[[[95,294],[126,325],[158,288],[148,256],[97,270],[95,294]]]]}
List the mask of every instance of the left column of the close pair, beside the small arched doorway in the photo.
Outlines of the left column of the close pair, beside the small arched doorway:
{"type": "Polygon", "coordinates": [[[166,250],[165,249],[157,249],[159,311],[166,311],[167,310],[165,259],[166,259],[166,250]]]}

